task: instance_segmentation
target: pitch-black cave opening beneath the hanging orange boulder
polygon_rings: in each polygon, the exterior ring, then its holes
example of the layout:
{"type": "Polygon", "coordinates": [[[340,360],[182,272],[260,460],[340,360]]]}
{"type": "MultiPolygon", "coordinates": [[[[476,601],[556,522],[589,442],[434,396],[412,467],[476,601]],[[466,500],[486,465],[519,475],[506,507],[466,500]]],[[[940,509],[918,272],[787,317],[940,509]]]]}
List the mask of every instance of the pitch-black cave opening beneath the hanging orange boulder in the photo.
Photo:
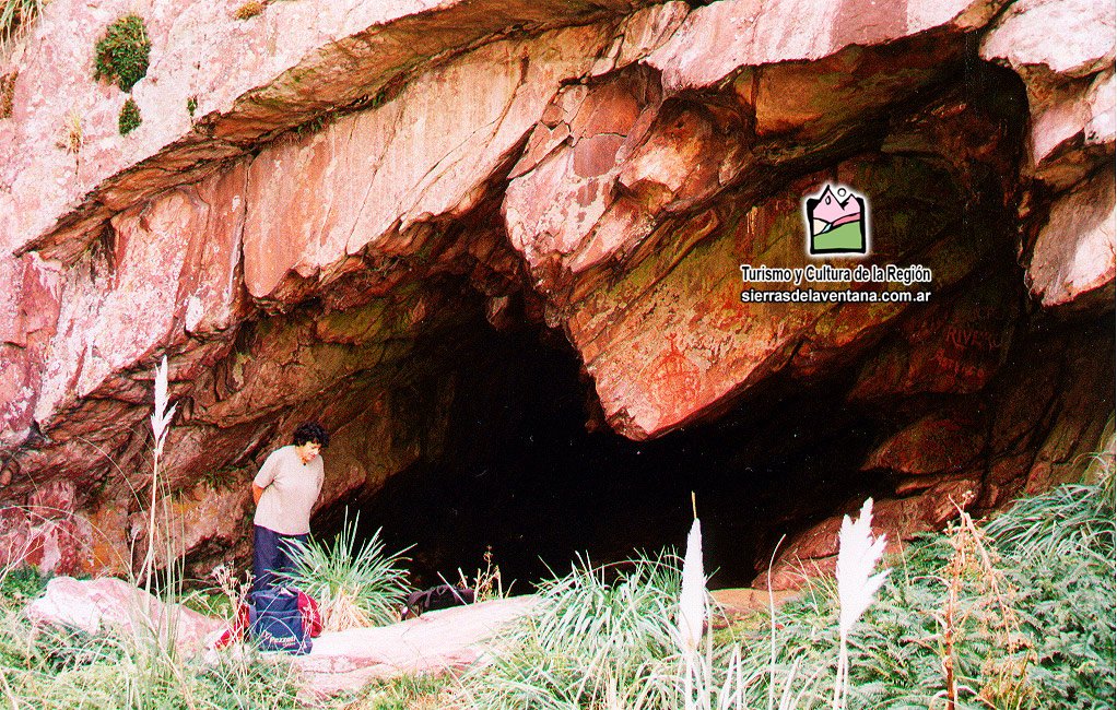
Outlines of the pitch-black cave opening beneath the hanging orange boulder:
{"type": "MultiPolygon", "coordinates": [[[[579,555],[607,564],[680,549],[691,491],[710,584],[747,585],[781,535],[881,483],[859,470],[877,425],[844,403],[852,373],[806,388],[775,377],[710,423],[638,442],[590,431],[592,385],[553,333],[489,330],[456,363],[441,458],[350,501],[361,538],[382,528],[389,549],[413,545],[417,586],[471,575],[486,550],[505,586],[526,592],[579,555]]],[[[317,530],[340,525],[337,508],[319,518],[317,530]]]]}

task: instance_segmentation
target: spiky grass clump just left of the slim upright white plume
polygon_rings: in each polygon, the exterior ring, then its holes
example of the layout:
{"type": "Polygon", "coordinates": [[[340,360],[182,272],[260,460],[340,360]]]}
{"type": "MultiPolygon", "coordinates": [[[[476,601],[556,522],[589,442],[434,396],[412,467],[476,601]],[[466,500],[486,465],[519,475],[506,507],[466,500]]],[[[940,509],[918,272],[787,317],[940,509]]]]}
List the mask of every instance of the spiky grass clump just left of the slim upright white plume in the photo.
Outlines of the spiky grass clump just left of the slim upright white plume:
{"type": "Polygon", "coordinates": [[[467,674],[468,707],[663,707],[676,698],[681,591],[677,557],[639,557],[541,585],[538,606],[495,643],[491,665],[467,674]]]}

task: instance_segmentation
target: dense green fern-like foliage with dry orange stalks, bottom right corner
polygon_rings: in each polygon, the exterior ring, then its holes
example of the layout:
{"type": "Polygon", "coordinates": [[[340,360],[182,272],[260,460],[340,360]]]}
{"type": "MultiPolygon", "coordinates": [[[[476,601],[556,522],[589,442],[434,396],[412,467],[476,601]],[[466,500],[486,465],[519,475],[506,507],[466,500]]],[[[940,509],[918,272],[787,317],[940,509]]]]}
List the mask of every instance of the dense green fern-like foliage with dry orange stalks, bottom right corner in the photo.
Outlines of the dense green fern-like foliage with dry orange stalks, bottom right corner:
{"type": "MultiPolygon", "coordinates": [[[[980,527],[965,514],[892,559],[888,584],[848,639],[848,707],[1113,707],[1111,481],[1029,498],[980,527]]],[[[738,630],[752,691],[821,708],[840,643],[834,584],[811,581],[776,610],[772,670],[758,630],[738,630]]]]}

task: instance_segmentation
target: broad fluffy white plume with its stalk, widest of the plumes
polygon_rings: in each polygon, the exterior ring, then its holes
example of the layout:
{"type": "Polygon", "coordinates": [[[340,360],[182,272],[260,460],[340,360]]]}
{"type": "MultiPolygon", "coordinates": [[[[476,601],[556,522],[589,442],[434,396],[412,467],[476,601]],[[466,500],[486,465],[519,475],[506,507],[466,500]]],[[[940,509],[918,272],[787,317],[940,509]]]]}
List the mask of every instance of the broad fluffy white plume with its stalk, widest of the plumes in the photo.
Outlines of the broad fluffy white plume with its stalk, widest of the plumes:
{"type": "Polygon", "coordinates": [[[838,532],[838,632],[840,646],[838,677],[834,680],[833,707],[844,708],[849,694],[849,632],[869,607],[873,595],[888,577],[888,570],[873,575],[872,572],[885,554],[885,535],[873,539],[872,499],[861,506],[861,516],[851,521],[844,516],[838,532]]]}

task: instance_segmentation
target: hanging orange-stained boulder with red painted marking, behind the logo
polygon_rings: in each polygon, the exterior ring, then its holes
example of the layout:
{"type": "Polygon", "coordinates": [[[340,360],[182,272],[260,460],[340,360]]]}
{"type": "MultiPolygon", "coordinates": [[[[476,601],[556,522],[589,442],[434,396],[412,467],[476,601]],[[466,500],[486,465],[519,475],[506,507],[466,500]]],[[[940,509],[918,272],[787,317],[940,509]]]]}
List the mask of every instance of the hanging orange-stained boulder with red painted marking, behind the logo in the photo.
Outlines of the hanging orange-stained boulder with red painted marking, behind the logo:
{"type": "MultiPolygon", "coordinates": [[[[923,250],[934,290],[947,288],[995,247],[957,244],[935,234],[964,221],[948,180],[907,159],[866,157],[839,167],[847,182],[871,185],[873,249],[903,259],[923,250]],[[910,203],[910,193],[923,195],[910,203]],[[909,224],[920,229],[910,230],[909,224]]],[[[728,203],[661,229],[665,248],[619,277],[585,279],[569,306],[566,328],[594,377],[611,425],[631,438],[668,431],[705,407],[783,368],[823,372],[856,358],[872,332],[904,311],[892,304],[742,304],[741,265],[805,267],[801,198],[831,179],[815,174],[752,209],[728,203]],[[636,306],[636,307],[633,307],[636,306]]],[[[832,259],[832,266],[857,266],[832,259]]],[[[842,285],[813,284],[825,289],[842,285]]],[[[862,288],[873,285],[863,285],[862,288]]],[[[777,286],[776,288],[793,288],[777,286]]],[[[913,289],[924,287],[911,287],[913,289]]]]}

